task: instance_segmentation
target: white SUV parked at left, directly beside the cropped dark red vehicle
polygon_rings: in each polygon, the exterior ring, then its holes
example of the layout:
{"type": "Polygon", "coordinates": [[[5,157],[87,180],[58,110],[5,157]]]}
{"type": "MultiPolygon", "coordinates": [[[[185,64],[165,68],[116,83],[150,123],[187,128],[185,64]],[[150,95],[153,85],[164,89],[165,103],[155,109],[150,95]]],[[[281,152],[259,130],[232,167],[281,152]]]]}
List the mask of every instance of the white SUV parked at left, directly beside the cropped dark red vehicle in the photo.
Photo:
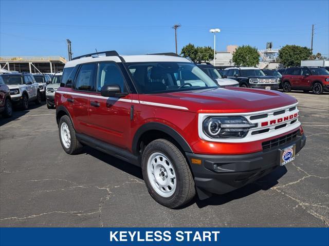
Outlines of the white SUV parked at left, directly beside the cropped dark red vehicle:
{"type": "Polygon", "coordinates": [[[38,83],[30,73],[2,74],[5,84],[10,89],[10,97],[13,104],[18,104],[23,110],[29,108],[29,102],[41,103],[41,94],[38,83]]]}

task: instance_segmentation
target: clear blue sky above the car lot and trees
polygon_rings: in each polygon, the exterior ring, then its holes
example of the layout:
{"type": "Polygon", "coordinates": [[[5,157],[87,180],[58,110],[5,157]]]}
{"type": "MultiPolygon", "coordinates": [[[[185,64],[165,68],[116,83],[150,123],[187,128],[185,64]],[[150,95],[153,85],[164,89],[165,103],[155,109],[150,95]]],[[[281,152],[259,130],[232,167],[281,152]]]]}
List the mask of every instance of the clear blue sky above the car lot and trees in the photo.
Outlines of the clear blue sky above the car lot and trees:
{"type": "Polygon", "coordinates": [[[310,47],[329,57],[329,0],[324,1],[6,1],[0,0],[0,56],[67,58],[116,50],[119,54],[178,52],[189,43],[213,47],[310,47]]]}

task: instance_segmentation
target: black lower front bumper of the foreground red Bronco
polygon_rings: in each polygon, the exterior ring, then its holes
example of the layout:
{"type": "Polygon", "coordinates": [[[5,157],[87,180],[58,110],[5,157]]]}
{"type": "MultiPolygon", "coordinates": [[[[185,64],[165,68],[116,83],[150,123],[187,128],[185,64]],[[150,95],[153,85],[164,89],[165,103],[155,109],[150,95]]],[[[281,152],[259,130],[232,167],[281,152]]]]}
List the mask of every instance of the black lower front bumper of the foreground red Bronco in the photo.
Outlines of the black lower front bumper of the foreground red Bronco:
{"type": "Polygon", "coordinates": [[[251,154],[203,155],[186,152],[200,199],[224,194],[253,182],[280,167],[280,150],[296,144],[296,154],[305,146],[306,137],[298,134],[293,141],[251,154]],[[200,164],[191,159],[201,160],[200,164]],[[214,170],[214,166],[216,170],[214,170]]]}

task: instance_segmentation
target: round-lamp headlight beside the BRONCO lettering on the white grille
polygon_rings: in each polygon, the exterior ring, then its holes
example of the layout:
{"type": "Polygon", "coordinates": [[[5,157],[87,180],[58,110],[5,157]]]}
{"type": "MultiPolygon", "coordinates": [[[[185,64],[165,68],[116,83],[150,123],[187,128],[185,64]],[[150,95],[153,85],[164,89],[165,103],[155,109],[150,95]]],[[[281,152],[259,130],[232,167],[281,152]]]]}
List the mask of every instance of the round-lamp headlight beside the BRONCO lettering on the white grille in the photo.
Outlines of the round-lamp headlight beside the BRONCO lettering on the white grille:
{"type": "Polygon", "coordinates": [[[203,131],[210,138],[243,138],[250,128],[257,124],[251,124],[242,116],[208,117],[203,122],[203,131]]]}

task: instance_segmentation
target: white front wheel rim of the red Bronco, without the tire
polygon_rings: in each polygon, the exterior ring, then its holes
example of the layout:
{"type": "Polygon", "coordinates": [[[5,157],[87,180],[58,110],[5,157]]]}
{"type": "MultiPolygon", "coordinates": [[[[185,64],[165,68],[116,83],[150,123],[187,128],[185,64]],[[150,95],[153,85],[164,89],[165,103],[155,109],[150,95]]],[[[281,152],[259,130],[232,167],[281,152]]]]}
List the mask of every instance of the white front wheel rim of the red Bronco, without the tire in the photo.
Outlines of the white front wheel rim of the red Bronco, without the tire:
{"type": "Polygon", "coordinates": [[[148,159],[148,177],[153,190],[162,197],[170,197],[176,190],[176,174],[170,160],[155,152],[148,159]]]}

